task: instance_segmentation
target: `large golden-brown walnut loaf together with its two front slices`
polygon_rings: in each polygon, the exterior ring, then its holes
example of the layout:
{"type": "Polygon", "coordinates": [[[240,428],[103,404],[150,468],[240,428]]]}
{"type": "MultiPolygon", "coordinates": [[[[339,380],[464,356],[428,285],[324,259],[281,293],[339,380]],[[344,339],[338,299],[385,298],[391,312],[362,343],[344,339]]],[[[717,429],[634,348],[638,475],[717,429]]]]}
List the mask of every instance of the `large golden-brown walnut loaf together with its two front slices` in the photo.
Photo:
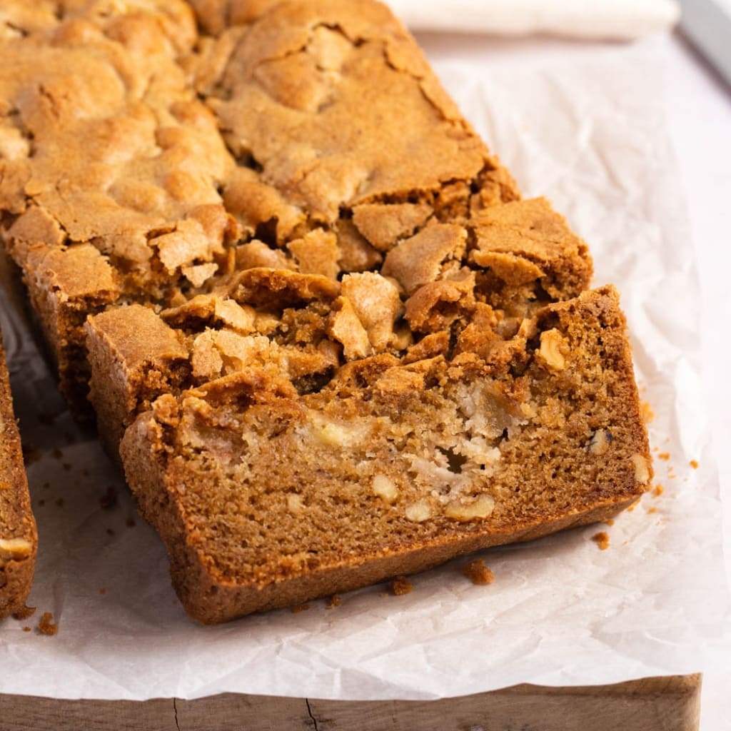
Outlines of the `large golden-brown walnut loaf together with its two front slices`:
{"type": "Polygon", "coordinates": [[[384,5],[2,12],[2,238],[192,616],[647,488],[615,290],[588,290],[586,244],[521,198],[384,5]]]}

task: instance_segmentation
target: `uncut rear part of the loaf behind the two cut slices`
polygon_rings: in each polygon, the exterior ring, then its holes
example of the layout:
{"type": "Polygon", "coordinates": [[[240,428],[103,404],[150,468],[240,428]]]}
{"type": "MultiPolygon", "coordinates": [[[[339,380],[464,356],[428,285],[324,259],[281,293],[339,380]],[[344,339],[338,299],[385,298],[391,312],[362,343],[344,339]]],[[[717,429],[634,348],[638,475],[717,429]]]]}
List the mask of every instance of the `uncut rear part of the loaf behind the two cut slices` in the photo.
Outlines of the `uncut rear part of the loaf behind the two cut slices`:
{"type": "Polygon", "coordinates": [[[103,5],[34,25],[12,4],[0,43],[2,235],[77,414],[88,314],[257,265],[336,279],[519,197],[379,4],[292,4],[197,45],[180,0],[103,5]]]}

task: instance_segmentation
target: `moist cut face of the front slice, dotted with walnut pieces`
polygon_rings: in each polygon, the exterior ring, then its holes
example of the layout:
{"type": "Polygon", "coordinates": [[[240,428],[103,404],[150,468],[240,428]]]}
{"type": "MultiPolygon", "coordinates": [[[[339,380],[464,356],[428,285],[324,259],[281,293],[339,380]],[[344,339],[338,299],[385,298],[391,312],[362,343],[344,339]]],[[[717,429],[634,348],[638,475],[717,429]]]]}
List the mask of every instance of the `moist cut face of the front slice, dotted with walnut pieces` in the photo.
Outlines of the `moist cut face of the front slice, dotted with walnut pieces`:
{"type": "Polygon", "coordinates": [[[617,323],[544,314],[510,346],[516,357],[500,366],[471,353],[406,365],[375,356],[303,395],[257,389],[252,368],[159,399],[192,545],[221,580],[269,582],[353,552],[515,532],[641,491],[617,323]],[[560,369],[546,357],[554,338],[560,369]]]}

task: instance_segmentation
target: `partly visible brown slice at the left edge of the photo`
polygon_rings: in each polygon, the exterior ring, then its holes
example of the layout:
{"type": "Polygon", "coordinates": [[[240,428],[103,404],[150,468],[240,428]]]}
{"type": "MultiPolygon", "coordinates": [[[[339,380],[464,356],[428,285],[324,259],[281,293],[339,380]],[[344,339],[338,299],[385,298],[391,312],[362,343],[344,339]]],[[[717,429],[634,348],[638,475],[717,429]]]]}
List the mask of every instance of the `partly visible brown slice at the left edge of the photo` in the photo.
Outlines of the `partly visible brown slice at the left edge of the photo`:
{"type": "Polygon", "coordinates": [[[37,545],[0,336],[0,619],[25,605],[33,580],[37,545]]]}

